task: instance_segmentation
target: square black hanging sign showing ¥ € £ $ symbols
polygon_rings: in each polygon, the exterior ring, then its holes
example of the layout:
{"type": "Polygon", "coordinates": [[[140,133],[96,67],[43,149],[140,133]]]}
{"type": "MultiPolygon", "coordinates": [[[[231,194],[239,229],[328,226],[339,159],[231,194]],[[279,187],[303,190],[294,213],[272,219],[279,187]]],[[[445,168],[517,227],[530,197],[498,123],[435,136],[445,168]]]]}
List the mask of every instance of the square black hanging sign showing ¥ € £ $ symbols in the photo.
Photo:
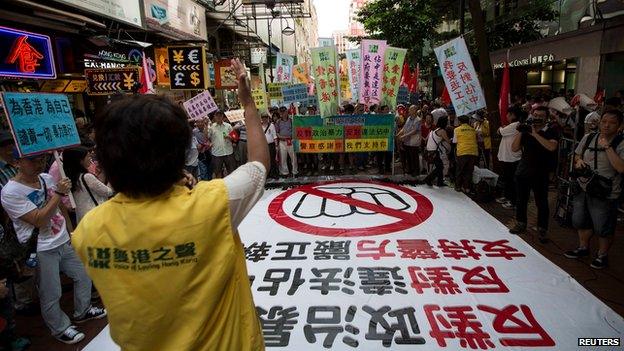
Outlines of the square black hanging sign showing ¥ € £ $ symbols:
{"type": "Polygon", "coordinates": [[[203,46],[170,46],[167,52],[172,90],[206,89],[203,46]]]}

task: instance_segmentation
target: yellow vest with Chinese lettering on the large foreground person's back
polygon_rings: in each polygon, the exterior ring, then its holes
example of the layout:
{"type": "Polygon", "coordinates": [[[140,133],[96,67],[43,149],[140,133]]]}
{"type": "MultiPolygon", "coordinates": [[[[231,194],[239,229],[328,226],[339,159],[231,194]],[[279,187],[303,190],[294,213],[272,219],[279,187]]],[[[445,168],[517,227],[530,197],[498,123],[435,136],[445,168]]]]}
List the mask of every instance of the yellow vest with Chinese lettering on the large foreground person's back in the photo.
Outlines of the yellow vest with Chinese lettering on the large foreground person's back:
{"type": "Polygon", "coordinates": [[[152,199],[115,196],[72,243],[123,351],[264,350],[222,180],[152,199]]]}

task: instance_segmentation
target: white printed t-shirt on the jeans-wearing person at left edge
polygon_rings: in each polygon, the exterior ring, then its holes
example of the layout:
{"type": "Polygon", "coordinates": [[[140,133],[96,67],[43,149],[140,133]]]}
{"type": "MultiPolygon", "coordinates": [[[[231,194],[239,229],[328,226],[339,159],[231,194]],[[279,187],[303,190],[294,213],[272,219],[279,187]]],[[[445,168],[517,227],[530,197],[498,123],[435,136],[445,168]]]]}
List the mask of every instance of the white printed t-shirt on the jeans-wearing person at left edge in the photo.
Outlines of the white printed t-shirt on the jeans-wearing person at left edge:
{"type": "MultiPolygon", "coordinates": [[[[31,188],[14,180],[9,180],[2,188],[2,207],[13,221],[13,227],[17,234],[17,239],[21,243],[28,241],[35,229],[35,226],[20,219],[23,215],[45,207],[46,200],[50,200],[51,193],[54,192],[56,183],[52,176],[42,173],[41,178],[46,183],[48,194],[44,194],[43,186],[40,189],[31,188]]],[[[37,251],[47,251],[55,249],[69,241],[69,233],[65,226],[65,217],[57,208],[56,213],[50,219],[50,223],[39,228],[39,241],[37,251]]]]}

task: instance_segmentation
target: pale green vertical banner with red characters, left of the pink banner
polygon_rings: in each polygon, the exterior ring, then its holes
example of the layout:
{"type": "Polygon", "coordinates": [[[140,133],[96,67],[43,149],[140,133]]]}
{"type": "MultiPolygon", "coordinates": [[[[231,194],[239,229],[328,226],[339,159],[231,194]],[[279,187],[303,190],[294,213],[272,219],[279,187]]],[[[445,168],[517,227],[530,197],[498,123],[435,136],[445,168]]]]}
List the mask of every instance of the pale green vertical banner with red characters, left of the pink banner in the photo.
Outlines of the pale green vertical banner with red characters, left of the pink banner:
{"type": "Polygon", "coordinates": [[[326,46],[311,49],[312,71],[315,76],[316,96],[322,117],[338,113],[338,69],[336,68],[336,47],[326,46]]]}

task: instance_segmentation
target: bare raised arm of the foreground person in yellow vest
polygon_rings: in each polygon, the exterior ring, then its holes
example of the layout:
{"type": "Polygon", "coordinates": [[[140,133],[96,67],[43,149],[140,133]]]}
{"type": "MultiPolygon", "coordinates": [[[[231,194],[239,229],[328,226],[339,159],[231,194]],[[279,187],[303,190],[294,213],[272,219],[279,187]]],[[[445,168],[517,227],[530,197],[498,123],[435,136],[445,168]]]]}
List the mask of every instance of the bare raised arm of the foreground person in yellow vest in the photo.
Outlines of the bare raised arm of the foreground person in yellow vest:
{"type": "Polygon", "coordinates": [[[245,109],[247,159],[250,162],[258,161],[264,165],[265,169],[269,169],[271,167],[269,147],[260,122],[260,115],[251,97],[251,90],[247,83],[247,71],[239,59],[232,60],[232,68],[238,78],[238,100],[245,109]]]}

